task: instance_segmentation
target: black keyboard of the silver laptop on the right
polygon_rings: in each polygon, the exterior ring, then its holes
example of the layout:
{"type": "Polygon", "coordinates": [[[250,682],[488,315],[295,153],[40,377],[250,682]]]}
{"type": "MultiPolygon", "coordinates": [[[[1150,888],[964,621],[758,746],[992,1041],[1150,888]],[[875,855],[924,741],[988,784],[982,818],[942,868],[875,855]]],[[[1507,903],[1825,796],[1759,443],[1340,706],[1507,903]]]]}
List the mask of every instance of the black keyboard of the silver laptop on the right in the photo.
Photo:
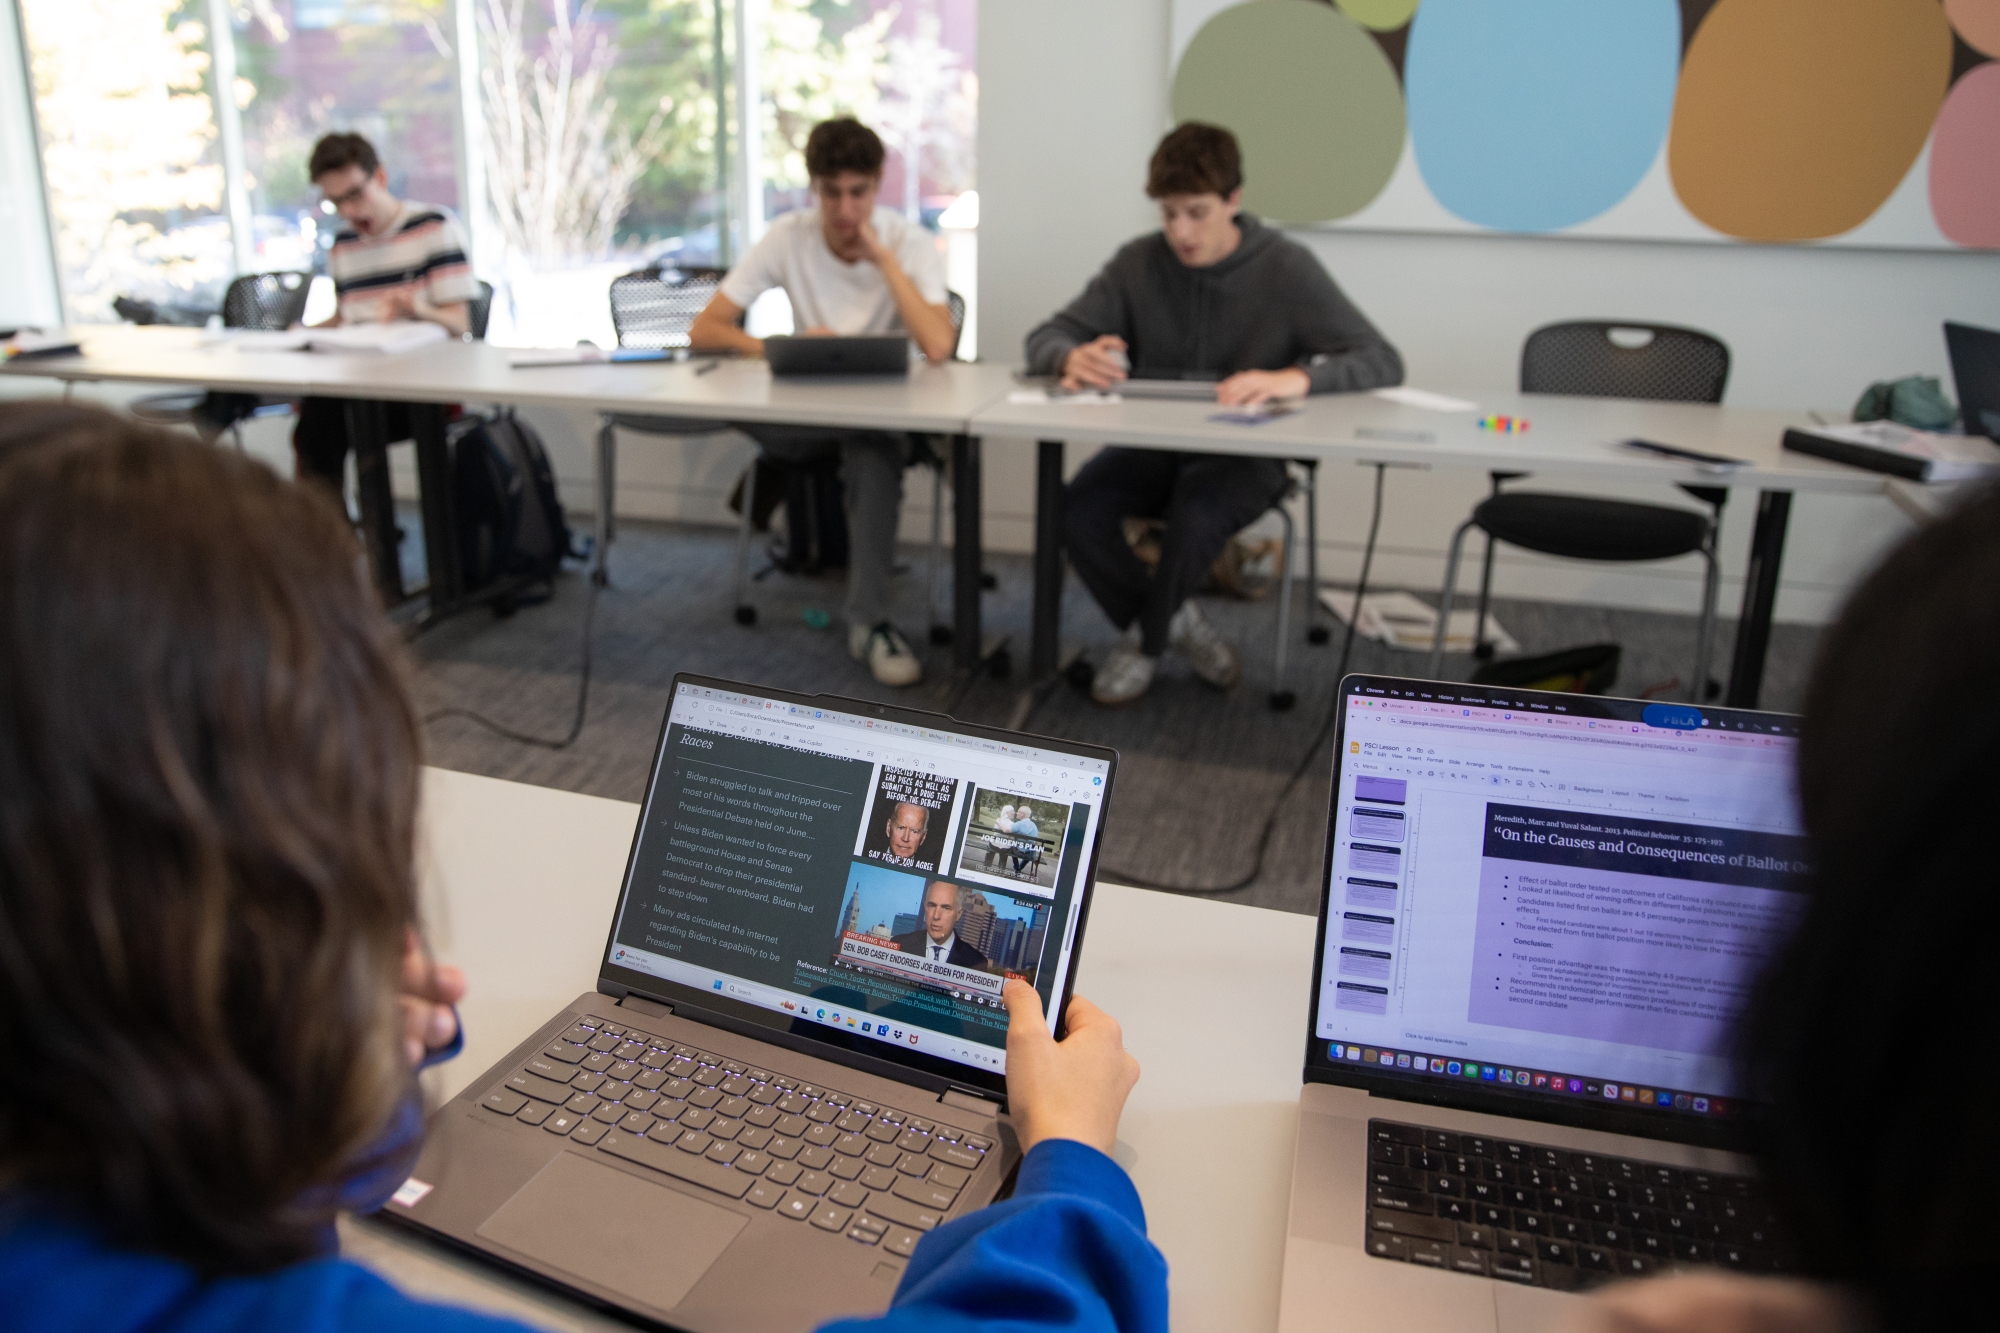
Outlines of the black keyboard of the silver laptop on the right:
{"type": "Polygon", "coordinates": [[[1762,1183],[1368,1121],[1368,1253],[1578,1291],[1668,1265],[1782,1271],[1762,1183]]]}

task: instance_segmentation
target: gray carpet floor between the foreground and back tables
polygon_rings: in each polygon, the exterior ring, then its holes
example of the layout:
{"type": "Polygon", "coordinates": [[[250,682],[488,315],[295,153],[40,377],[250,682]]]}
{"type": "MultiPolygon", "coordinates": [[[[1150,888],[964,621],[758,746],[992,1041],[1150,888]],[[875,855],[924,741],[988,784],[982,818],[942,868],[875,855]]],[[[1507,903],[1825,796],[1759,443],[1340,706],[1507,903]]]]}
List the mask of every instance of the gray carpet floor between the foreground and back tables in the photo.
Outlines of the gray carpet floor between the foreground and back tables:
{"type": "MultiPolygon", "coordinates": [[[[414,514],[408,524],[414,530],[414,514]]],[[[840,628],[840,574],[818,578],[770,574],[754,584],[758,622],[730,614],[732,532],[692,524],[622,524],[612,554],[612,586],[594,610],[590,707],[576,743],[548,751],[502,739],[460,717],[428,725],[430,761],[446,769],[638,801],[660,733],[668,687],[678,671],[752,681],[802,693],[848,695],[948,711],[960,719],[1008,725],[1024,705],[1026,681],[952,671],[950,648],[920,642],[928,677],[908,691],[878,687],[846,652],[840,628]],[[808,612],[830,612],[832,628],[812,628],[808,612]]],[[[412,542],[414,544],[414,542],[412,542]]],[[[922,636],[924,550],[904,552],[898,624],[922,636]]],[[[994,554],[986,564],[998,586],[984,594],[988,646],[1006,636],[1026,666],[1026,556],[994,554]]],[[[420,576],[420,570],[412,570],[420,576]]],[[[426,715],[472,709],[506,727],[560,739],[576,713],[582,662],[580,630],[590,584],[566,570],[548,602],[508,618],[486,610],[462,614],[412,646],[426,715]]],[[[1240,887],[1214,897],[1280,911],[1316,913],[1330,755],[1314,747],[1328,719],[1342,630],[1332,642],[1294,640],[1288,713],[1268,705],[1276,606],[1206,598],[1210,618],[1244,654],[1244,683],[1228,695],[1194,679],[1168,654],[1152,693],[1122,711],[1094,707],[1058,685],[1028,717],[1028,731],[1120,751],[1120,773],[1104,825],[1100,875],[1156,887],[1198,891],[1240,887]],[[1308,749],[1312,755],[1308,759],[1308,749]],[[1292,775],[1304,765],[1294,783],[1292,775]],[[1258,863],[1258,835],[1276,807],[1270,841],[1258,863]]],[[[1586,642],[1618,642],[1624,664],[1616,693],[1686,677],[1694,654],[1694,616],[1496,600],[1494,610],[1524,652],[1586,642]]],[[[1296,612],[1304,612],[1304,588],[1296,612]]],[[[1064,640],[1102,652],[1110,622],[1070,580],[1064,592],[1064,640]]],[[[1730,622],[1722,624],[1716,662],[1728,662],[1730,622]]],[[[1804,689],[1816,628],[1780,624],[1764,675],[1766,709],[1794,709],[1804,689]]],[[[1352,671],[1422,675],[1424,654],[1356,640],[1352,671]]],[[[1446,675],[1464,679],[1472,660],[1446,658],[1446,675]]],[[[1718,669],[1716,675],[1722,675],[1718,669]]]]}

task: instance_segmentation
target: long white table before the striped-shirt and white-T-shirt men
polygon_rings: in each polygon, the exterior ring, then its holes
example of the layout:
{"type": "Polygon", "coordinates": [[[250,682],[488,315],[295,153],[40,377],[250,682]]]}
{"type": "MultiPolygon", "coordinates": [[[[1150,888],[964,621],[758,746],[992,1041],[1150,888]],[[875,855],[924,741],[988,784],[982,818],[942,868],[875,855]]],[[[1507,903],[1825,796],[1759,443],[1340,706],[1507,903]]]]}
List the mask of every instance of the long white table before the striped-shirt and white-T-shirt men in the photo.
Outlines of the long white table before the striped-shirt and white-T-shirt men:
{"type": "MultiPolygon", "coordinates": [[[[964,664],[978,660],[980,454],[978,440],[968,436],[966,424],[978,408],[1004,396],[1012,386],[1012,372],[1004,366],[918,364],[906,380],[778,380],[770,374],[770,366],[756,358],[516,368],[512,362],[524,354],[520,348],[486,342],[438,342],[402,356],[246,352],[218,342],[200,328],[132,324],[86,328],[82,346],[78,356],[16,360],[0,372],[64,382],[200,384],[270,396],[392,400],[428,408],[452,402],[506,402],[730,424],[772,422],[948,434],[954,450],[958,574],[954,642],[964,664]]],[[[450,512],[444,416],[420,410],[412,414],[412,426],[418,434],[418,484],[424,500],[426,558],[432,570],[432,608],[448,612],[460,604],[462,580],[456,544],[444,538],[456,530],[450,512]]],[[[366,440],[376,434],[380,424],[362,412],[356,418],[356,438],[366,440]]],[[[360,452],[356,456],[376,582],[394,602],[402,598],[402,576],[390,518],[386,460],[362,458],[360,452]]],[[[614,470],[614,458],[604,444],[596,466],[596,576],[602,580],[612,538],[614,470]]]]}

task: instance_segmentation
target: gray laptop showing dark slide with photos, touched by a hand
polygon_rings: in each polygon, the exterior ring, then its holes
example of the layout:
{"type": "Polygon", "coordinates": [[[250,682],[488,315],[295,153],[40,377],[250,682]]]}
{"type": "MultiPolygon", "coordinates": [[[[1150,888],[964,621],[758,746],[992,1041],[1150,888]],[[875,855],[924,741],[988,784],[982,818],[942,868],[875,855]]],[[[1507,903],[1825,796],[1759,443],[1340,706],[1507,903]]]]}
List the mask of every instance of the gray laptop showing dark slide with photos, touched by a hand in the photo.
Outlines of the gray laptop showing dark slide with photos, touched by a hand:
{"type": "Polygon", "coordinates": [[[1018,1165],[1000,993],[1062,1013],[1116,763],[676,677],[596,989],[438,1109],[384,1215],[694,1333],[882,1311],[1018,1165]]]}

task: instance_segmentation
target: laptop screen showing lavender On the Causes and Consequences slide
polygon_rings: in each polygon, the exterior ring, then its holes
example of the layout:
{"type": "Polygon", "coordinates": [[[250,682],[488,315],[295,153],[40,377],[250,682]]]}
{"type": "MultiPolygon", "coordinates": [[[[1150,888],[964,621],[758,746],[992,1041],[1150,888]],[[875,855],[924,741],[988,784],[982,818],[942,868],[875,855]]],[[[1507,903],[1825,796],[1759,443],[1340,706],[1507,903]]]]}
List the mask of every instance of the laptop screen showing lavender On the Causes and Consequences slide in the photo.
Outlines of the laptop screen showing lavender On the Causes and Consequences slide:
{"type": "Polygon", "coordinates": [[[1796,719],[1348,677],[1306,1079],[1732,1143],[1796,719]]]}

